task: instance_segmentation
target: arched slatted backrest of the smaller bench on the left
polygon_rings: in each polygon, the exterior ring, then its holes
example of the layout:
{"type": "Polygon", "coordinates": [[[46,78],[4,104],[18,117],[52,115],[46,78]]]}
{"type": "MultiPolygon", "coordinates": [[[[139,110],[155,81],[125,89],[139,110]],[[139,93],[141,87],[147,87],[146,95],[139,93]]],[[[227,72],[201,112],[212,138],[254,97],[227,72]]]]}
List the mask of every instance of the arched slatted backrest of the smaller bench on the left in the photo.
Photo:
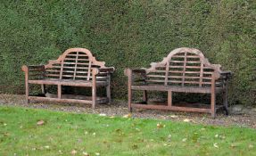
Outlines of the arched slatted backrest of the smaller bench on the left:
{"type": "MultiPolygon", "coordinates": [[[[92,79],[92,68],[104,68],[105,62],[95,60],[93,54],[85,48],[70,48],[54,61],[45,65],[45,77],[57,79],[92,79]]],[[[101,78],[107,78],[102,73],[101,78]]]]}

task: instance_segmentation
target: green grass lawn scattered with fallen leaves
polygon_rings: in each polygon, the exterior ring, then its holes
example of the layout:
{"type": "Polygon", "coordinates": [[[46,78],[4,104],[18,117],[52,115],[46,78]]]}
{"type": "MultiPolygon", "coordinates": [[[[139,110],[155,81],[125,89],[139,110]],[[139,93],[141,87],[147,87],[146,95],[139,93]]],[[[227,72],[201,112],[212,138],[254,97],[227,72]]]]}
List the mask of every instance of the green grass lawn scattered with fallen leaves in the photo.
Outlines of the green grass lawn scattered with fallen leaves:
{"type": "Polygon", "coordinates": [[[0,107],[0,155],[256,155],[256,130],[0,107]],[[44,124],[37,125],[37,121],[44,124]],[[158,125],[158,126],[157,126],[158,125]]]}

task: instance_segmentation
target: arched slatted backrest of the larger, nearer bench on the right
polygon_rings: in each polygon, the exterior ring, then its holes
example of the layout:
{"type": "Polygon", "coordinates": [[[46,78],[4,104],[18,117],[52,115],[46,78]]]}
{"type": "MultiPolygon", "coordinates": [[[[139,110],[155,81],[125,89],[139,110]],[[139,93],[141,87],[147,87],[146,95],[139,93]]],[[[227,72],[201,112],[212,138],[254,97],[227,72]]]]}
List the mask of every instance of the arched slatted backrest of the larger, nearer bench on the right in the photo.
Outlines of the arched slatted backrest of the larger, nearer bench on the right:
{"type": "Polygon", "coordinates": [[[211,86],[219,78],[219,64],[211,64],[194,48],[178,48],[162,62],[151,63],[146,69],[147,83],[165,86],[211,86]]]}

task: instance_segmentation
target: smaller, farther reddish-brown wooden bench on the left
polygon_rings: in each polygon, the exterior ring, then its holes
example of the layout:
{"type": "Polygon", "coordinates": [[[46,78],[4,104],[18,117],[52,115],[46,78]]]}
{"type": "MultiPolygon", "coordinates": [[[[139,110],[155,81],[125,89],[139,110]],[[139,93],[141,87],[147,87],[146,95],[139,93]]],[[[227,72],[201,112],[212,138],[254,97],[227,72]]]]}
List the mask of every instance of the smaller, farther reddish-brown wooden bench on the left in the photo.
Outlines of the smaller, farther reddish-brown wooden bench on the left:
{"type": "Polygon", "coordinates": [[[22,66],[25,72],[26,98],[36,101],[50,101],[63,103],[110,103],[111,101],[111,73],[113,67],[105,67],[105,62],[95,60],[93,54],[85,48],[70,48],[54,61],[46,65],[22,66]],[[31,96],[29,85],[38,84],[45,94],[45,85],[57,86],[57,97],[31,96]],[[85,86],[92,88],[92,97],[84,99],[62,98],[62,86],[85,86]],[[107,97],[97,97],[96,88],[105,86],[107,97]]]}

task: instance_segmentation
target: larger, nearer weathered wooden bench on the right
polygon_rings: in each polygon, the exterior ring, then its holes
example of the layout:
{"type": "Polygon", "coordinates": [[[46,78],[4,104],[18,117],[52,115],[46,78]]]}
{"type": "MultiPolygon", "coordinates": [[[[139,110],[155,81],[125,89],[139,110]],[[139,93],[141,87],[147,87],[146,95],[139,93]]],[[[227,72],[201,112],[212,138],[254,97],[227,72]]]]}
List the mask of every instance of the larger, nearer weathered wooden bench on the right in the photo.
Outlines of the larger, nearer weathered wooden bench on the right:
{"type": "MultiPolygon", "coordinates": [[[[128,110],[132,108],[162,109],[170,111],[198,111],[216,116],[216,94],[223,94],[223,105],[227,111],[227,78],[230,71],[221,71],[219,64],[211,64],[202,52],[193,48],[178,48],[169,53],[162,62],[151,63],[149,69],[126,69],[128,76],[128,110]],[[143,91],[144,103],[132,102],[132,91],[143,91]],[[147,104],[147,91],[168,92],[165,105],[147,104]],[[211,94],[211,105],[184,107],[172,104],[172,93],[211,94]]],[[[219,108],[219,107],[218,107],[219,108]]]]}

